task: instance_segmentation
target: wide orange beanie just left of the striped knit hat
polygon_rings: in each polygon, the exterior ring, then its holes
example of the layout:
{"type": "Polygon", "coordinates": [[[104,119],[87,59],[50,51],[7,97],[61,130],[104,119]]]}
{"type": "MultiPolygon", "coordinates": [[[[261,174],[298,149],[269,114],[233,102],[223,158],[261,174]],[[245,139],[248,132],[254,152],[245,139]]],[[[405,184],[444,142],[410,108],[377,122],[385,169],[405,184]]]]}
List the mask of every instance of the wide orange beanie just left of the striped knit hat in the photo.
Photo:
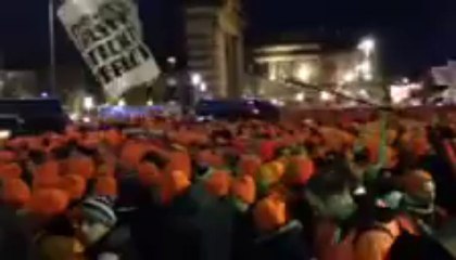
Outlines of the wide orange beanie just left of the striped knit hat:
{"type": "Polygon", "coordinates": [[[28,203],[28,210],[43,216],[51,217],[62,213],[68,207],[68,194],[59,188],[40,188],[31,194],[28,203]]]}

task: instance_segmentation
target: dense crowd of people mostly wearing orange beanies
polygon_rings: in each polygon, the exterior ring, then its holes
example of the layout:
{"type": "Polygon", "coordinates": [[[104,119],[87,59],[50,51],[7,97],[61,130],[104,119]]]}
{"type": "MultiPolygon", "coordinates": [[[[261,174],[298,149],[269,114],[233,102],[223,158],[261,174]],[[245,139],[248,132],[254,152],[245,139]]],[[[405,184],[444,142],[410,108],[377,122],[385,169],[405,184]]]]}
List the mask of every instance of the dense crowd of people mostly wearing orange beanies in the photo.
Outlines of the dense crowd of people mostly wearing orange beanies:
{"type": "Polygon", "coordinates": [[[453,259],[455,131],[151,116],[3,140],[0,258],[453,259]]]}

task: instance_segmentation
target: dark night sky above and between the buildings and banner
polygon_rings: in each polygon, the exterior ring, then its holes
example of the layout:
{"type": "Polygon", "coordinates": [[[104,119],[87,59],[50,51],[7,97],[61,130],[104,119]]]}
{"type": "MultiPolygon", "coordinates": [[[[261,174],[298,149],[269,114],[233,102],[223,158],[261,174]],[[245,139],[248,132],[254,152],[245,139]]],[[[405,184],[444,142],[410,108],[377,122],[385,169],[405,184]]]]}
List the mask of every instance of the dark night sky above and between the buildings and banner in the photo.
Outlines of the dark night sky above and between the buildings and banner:
{"type": "MultiPolygon", "coordinates": [[[[0,47],[10,67],[47,62],[47,0],[3,0],[0,47]]],[[[139,0],[145,41],[159,61],[181,56],[183,40],[179,2],[139,0]]],[[[325,28],[379,39],[382,65],[393,75],[414,74],[456,57],[454,0],[244,0],[246,39],[283,31],[325,28]]],[[[60,63],[80,62],[60,25],[60,63]]],[[[354,40],[354,39],[353,39],[354,40]]]]}

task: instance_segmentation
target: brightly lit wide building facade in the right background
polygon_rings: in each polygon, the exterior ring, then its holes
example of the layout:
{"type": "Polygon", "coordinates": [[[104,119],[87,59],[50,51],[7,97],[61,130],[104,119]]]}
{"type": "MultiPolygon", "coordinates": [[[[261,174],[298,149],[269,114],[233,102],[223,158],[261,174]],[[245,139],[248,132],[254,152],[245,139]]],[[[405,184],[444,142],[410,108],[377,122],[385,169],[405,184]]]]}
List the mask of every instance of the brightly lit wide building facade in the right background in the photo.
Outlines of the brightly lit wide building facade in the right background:
{"type": "MultiPolygon", "coordinates": [[[[358,46],[321,39],[259,44],[250,52],[253,65],[250,73],[276,82],[275,88],[282,90],[281,96],[289,101],[309,105],[321,101],[346,103],[330,94],[338,91],[356,99],[378,99],[376,102],[381,102],[383,94],[376,83],[378,74],[373,51],[375,41],[371,39],[363,39],[358,46]],[[287,79],[297,79],[313,88],[290,91],[290,86],[284,83],[287,79]]],[[[265,91],[265,86],[255,87],[256,94],[277,99],[278,90],[270,90],[269,83],[265,91]]]]}

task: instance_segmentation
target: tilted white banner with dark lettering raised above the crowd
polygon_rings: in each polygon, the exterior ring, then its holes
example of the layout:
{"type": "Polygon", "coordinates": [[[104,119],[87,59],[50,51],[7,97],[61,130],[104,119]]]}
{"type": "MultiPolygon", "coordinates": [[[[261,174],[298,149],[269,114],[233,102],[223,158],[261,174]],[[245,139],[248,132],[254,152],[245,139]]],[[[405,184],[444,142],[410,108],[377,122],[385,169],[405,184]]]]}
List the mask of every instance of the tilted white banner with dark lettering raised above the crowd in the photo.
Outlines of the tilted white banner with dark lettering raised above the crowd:
{"type": "Polygon", "coordinates": [[[58,16],[110,98],[159,76],[131,0],[65,0],[58,16]]]}

